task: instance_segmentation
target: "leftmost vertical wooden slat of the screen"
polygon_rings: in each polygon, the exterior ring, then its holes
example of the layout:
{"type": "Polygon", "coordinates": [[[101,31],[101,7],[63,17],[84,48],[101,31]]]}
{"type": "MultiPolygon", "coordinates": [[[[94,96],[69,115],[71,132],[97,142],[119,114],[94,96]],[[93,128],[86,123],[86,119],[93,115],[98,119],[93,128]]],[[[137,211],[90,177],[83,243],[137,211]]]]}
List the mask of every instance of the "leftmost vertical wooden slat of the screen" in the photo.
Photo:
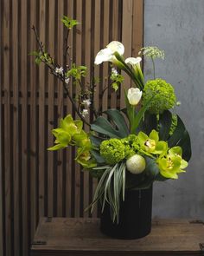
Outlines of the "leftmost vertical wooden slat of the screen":
{"type": "Polygon", "coordinates": [[[5,187],[5,246],[6,256],[11,256],[11,209],[10,209],[10,1],[3,6],[3,84],[4,84],[4,187],[5,187]]]}

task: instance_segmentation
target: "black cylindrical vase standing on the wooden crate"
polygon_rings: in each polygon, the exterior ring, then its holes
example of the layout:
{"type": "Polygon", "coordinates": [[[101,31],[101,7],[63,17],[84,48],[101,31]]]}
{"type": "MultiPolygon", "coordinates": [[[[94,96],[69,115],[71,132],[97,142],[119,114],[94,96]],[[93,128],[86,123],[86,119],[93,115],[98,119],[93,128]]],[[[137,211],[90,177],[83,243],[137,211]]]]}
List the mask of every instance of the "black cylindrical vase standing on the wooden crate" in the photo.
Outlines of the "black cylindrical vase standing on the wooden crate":
{"type": "Polygon", "coordinates": [[[152,187],[126,190],[120,203],[119,222],[112,222],[110,207],[105,205],[100,217],[100,230],[106,235],[123,240],[139,239],[150,233],[152,187]]]}

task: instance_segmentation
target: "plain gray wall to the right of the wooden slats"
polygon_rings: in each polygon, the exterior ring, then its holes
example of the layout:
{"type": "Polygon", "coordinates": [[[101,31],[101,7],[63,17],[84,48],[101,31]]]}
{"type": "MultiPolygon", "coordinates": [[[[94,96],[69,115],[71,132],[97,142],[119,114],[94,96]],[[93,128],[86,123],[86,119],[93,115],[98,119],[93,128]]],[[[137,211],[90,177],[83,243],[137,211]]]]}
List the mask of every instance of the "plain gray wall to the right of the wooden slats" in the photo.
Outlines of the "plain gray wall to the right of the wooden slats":
{"type": "MultiPolygon", "coordinates": [[[[165,50],[156,75],[175,86],[192,140],[188,172],[155,182],[153,215],[204,220],[204,0],[144,0],[144,45],[165,50]]],[[[151,63],[144,62],[146,78],[151,63]]]]}

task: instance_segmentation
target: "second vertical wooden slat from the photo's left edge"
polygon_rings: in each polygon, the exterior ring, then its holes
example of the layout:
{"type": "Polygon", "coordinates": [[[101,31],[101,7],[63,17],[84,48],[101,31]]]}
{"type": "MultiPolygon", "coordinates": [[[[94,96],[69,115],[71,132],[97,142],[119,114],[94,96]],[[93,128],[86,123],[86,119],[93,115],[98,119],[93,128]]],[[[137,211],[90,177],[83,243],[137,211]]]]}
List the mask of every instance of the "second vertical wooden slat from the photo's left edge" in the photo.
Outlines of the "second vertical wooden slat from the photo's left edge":
{"type": "MultiPolygon", "coordinates": [[[[18,4],[16,1],[12,1],[12,41],[18,41],[18,4]]],[[[16,256],[20,255],[20,209],[19,209],[19,102],[18,102],[18,47],[17,43],[13,44],[12,50],[12,59],[16,62],[12,62],[12,86],[13,86],[13,95],[14,95],[14,104],[13,104],[13,186],[14,186],[14,252],[16,256]]]]}

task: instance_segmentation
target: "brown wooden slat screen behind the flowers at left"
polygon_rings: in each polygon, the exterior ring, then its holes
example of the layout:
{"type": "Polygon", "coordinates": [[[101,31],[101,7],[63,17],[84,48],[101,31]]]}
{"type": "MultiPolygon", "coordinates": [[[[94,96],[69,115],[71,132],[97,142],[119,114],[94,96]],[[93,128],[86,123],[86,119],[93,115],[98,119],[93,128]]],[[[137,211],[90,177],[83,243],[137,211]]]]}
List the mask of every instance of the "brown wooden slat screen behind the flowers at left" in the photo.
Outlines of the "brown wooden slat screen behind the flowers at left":
{"type": "MultiPolygon", "coordinates": [[[[0,255],[27,256],[40,216],[91,216],[96,181],[80,172],[74,149],[48,152],[51,129],[72,106],[58,82],[29,52],[41,41],[62,63],[63,15],[80,24],[69,37],[71,57],[100,77],[96,102],[102,109],[122,107],[124,96],[108,89],[101,99],[108,65],[94,67],[94,56],[112,40],[124,43],[124,56],[137,56],[143,45],[143,0],[1,0],[0,1],[0,255]]],[[[90,82],[90,75],[86,82],[90,82]]],[[[125,86],[130,86],[128,82],[125,86]]],[[[70,88],[72,95],[77,89],[70,88]]],[[[77,118],[77,116],[75,116],[77,118]]],[[[90,116],[92,118],[92,116],[90,116]]],[[[93,213],[97,216],[97,211],[93,213]]]]}

